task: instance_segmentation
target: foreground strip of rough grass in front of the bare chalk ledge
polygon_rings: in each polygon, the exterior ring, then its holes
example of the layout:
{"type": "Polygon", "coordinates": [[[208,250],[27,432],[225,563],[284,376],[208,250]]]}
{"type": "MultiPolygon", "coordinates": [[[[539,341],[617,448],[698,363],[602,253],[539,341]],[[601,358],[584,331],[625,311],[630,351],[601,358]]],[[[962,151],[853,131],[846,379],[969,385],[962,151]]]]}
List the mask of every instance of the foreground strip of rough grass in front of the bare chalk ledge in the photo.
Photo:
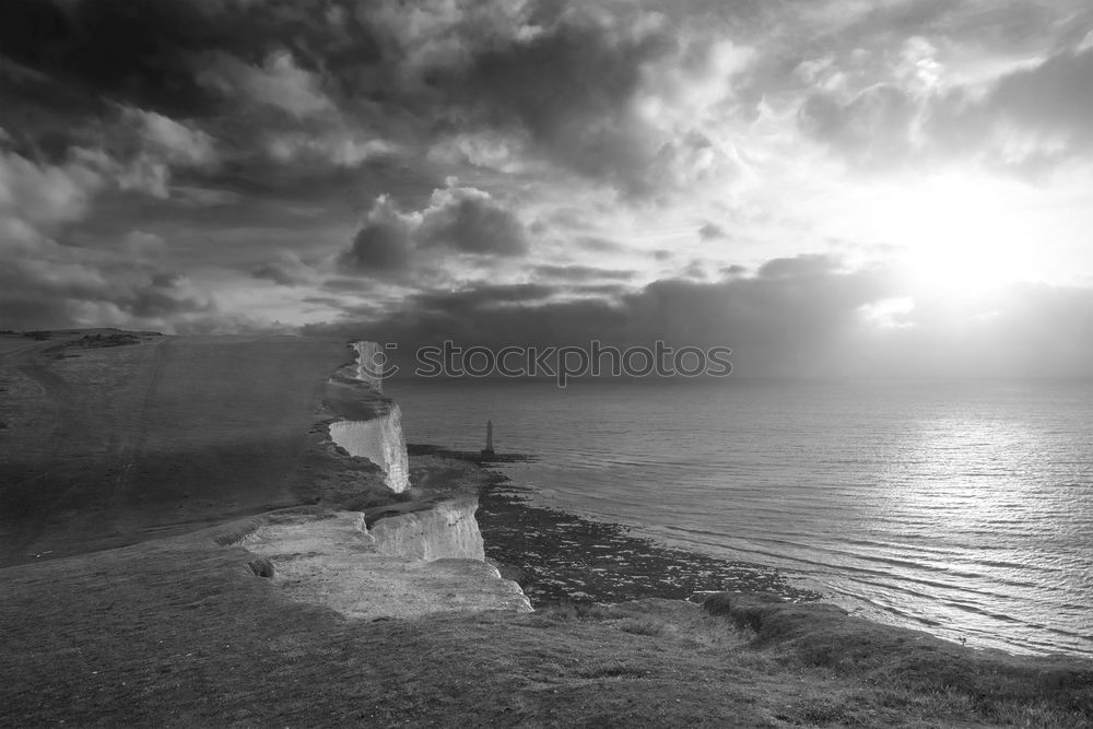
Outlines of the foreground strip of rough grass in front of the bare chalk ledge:
{"type": "Polygon", "coordinates": [[[218,543],[248,528],[0,571],[0,725],[1093,722],[1089,665],[977,654],[820,605],[345,620],[218,543]]]}

